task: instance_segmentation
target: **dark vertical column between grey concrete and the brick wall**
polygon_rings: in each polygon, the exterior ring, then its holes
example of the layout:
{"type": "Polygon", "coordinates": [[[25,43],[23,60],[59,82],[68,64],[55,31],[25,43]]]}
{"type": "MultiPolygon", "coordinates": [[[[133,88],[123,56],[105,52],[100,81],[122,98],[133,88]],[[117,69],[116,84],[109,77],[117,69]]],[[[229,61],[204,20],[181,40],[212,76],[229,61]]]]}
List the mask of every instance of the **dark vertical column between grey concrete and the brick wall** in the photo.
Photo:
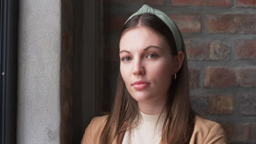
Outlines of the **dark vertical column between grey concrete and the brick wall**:
{"type": "Polygon", "coordinates": [[[61,1],[61,143],[80,143],[101,111],[102,0],[61,1]]]}

